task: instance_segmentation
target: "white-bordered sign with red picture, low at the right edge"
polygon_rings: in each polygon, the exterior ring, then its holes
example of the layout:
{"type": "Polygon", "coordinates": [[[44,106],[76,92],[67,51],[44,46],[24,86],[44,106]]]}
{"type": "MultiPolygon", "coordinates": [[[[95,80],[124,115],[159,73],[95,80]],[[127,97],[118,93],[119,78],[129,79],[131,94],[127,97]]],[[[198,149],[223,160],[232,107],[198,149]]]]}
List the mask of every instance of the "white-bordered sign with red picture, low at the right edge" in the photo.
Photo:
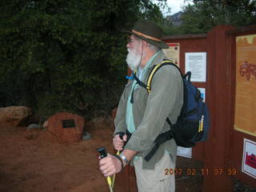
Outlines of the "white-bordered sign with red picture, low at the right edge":
{"type": "Polygon", "coordinates": [[[244,138],[242,172],[256,178],[256,142],[244,138]]]}

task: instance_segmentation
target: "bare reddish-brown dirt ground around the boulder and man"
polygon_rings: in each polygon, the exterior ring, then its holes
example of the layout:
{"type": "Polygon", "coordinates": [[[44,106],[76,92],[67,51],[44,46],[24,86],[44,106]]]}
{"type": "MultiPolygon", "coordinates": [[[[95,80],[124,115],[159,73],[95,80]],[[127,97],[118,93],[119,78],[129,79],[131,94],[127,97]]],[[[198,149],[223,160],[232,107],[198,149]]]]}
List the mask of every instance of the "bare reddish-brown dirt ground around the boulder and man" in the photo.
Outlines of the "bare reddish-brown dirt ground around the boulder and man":
{"type": "MultiPolygon", "coordinates": [[[[98,170],[97,148],[113,152],[109,127],[86,126],[89,141],[58,143],[48,130],[0,125],[1,192],[86,192],[109,191],[98,170]],[[112,151],[111,151],[112,150],[112,151]]],[[[202,167],[202,162],[178,158],[177,168],[202,167]]],[[[202,177],[177,175],[176,191],[198,192],[202,177]]]]}

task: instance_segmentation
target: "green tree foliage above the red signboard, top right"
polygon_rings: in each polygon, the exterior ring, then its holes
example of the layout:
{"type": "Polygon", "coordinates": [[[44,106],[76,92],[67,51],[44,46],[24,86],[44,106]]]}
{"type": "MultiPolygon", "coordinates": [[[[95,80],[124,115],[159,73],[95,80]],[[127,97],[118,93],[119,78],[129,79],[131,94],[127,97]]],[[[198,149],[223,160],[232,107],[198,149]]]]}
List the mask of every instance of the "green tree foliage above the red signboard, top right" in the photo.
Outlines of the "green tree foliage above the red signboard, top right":
{"type": "Polygon", "coordinates": [[[206,33],[214,26],[249,26],[256,23],[256,0],[193,1],[186,6],[181,30],[185,34],[206,33]]]}

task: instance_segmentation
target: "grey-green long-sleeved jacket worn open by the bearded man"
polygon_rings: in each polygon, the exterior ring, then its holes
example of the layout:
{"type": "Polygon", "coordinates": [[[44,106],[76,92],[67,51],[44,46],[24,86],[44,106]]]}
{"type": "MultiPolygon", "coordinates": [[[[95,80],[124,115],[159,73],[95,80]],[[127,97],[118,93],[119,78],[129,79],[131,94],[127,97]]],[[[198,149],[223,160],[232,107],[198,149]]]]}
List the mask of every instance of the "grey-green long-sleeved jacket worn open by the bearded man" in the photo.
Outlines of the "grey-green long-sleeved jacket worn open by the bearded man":
{"type": "MultiPolygon", "coordinates": [[[[154,58],[146,71],[144,83],[146,83],[154,65],[162,63],[164,58],[165,54],[162,51],[154,58]]],[[[122,93],[114,119],[114,134],[120,131],[126,132],[126,102],[133,81],[135,80],[128,81],[122,93]]],[[[166,118],[169,117],[172,123],[176,122],[182,109],[182,103],[183,82],[179,71],[174,66],[163,66],[154,74],[150,94],[142,86],[134,90],[133,116],[136,130],[131,135],[125,149],[139,151],[137,155],[144,158],[154,146],[154,140],[158,134],[170,130],[166,118]]],[[[149,162],[144,159],[143,169],[154,169],[154,165],[162,158],[166,150],[175,162],[177,145],[174,139],[171,139],[158,148],[149,162]]]]}

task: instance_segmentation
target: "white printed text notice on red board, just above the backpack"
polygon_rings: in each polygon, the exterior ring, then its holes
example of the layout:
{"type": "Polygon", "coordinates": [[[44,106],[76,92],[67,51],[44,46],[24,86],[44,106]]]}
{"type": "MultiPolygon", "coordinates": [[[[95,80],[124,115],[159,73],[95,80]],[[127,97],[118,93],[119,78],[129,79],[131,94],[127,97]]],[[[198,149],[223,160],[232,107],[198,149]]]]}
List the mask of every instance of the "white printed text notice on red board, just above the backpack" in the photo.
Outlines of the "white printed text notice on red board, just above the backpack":
{"type": "Polygon", "coordinates": [[[185,70],[191,71],[191,82],[206,82],[206,52],[186,53],[185,70]]]}

